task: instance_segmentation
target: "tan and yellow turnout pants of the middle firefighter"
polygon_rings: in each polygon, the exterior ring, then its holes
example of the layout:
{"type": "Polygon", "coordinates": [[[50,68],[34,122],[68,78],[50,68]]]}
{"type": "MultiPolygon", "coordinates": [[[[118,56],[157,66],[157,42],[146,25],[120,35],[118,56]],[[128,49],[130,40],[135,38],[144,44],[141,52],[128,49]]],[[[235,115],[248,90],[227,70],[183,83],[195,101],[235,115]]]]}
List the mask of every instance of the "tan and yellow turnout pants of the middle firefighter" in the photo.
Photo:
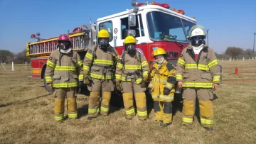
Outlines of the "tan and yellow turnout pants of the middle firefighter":
{"type": "Polygon", "coordinates": [[[140,87],[140,84],[136,82],[122,82],[123,87],[123,99],[124,108],[127,118],[133,118],[135,116],[134,104],[133,104],[133,92],[135,94],[135,101],[137,105],[137,115],[139,119],[146,119],[146,88],[140,87]]]}

